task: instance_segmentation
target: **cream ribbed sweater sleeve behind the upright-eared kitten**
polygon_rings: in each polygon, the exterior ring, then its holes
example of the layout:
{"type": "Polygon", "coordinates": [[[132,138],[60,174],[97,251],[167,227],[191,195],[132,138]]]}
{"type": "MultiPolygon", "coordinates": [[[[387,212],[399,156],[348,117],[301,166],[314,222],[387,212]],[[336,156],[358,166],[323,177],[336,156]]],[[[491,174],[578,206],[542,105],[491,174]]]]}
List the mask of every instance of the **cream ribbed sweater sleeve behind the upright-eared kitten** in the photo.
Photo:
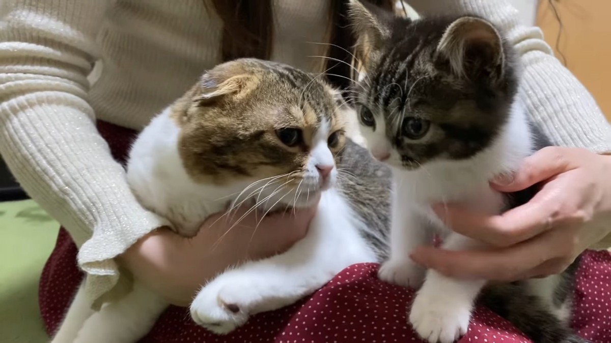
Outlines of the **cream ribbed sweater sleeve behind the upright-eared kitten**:
{"type": "Polygon", "coordinates": [[[611,152],[611,126],[594,98],[553,56],[538,27],[519,23],[507,0],[411,0],[426,14],[473,13],[497,24],[521,57],[521,96],[529,115],[555,145],[611,152]]]}

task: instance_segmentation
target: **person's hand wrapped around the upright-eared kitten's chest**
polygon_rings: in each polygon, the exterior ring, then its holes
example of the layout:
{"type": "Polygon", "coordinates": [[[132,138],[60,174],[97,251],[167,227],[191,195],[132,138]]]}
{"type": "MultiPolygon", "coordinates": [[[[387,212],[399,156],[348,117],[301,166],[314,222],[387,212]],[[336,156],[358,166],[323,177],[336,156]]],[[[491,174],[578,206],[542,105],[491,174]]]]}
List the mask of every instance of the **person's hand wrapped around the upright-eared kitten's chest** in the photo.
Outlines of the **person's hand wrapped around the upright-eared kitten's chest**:
{"type": "Polygon", "coordinates": [[[482,215],[457,205],[435,206],[454,231],[489,244],[486,250],[420,247],[418,264],[457,278],[514,281],[566,269],[611,231],[611,156],[579,148],[544,148],[525,159],[513,176],[491,183],[500,192],[534,184],[529,203],[502,215],[482,215]]]}

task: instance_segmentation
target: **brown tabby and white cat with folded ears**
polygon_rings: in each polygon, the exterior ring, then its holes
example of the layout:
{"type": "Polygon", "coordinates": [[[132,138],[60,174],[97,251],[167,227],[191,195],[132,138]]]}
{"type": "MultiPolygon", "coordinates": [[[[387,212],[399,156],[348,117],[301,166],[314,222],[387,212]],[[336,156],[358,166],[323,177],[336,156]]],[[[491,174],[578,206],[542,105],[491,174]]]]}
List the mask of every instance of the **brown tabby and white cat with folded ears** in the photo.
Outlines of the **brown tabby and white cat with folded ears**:
{"type": "MultiPolygon", "coordinates": [[[[199,325],[230,333],[351,264],[386,257],[390,170],[346,137],[345,112],[340,93],[318,76],[241,59],[205,73],[137,137],[128,182],[184,236],[227,200],[256,202],[262,214],[320,200],[308,233],[290,250],[247,261],[202,287],[191,304],[199,325]]],[[[54,342],[135,342],[166,306],[136,281],[129,295],[87,318],[79,291],[54,342]]]]}

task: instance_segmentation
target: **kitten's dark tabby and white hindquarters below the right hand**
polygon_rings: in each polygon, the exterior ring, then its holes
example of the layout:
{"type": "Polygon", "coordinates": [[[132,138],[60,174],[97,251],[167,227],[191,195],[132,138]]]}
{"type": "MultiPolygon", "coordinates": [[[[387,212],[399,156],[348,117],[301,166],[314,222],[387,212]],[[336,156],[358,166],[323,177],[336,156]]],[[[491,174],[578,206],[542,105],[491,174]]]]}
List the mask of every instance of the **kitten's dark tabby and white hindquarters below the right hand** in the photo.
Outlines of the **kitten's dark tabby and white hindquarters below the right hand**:
{"type": "Polygon", "coordinates": [[[546,280],[488,286],[480,301],[535,343],[590,343],[569,327],[578,266],[579,258],[565,272],[546,280]]]}

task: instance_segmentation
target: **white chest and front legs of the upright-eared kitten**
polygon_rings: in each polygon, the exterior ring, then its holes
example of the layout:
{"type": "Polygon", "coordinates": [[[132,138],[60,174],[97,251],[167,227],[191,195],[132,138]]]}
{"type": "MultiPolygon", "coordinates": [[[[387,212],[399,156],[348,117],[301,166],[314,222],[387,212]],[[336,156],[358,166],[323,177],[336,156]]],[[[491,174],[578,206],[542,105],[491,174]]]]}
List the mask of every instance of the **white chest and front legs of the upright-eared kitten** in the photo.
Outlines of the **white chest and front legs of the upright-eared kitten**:
{"type": "MultiPolygon", "coordinates": [[[[466,250],[480,243],[447,228],[431,209],[435,203],[460,203],[485,214],[499,214],[503,197],[489,180],[518,169],[532,152],[532,137],[524,110],[516,104],[505,129],[489,148],[462,161],[428,162],[417,170],[393,170],[391,254],[379,277],[390,283],[420,288],[409,321],[430,341],[453,342],[466,333],[475,297],[485,280],[455,280],[425,270],[409,255],[431,245],[441,233],[442,247],[466,250]]],[[[450,223],[451,224],[451,223],[450,223]]]]}

